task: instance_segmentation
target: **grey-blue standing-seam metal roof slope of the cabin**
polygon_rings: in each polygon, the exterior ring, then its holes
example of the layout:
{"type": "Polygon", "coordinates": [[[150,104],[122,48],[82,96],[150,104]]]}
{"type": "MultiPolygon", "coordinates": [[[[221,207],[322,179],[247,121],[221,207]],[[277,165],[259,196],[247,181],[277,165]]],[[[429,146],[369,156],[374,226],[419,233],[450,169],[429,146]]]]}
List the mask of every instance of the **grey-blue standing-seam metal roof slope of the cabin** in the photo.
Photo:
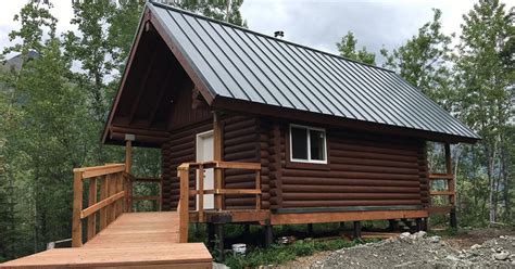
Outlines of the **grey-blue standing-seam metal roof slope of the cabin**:
{"type": "Polygon", "coordinates": [[[168,5],[148,8],[213,98],[479,139],[391,71],[168,5]]]}

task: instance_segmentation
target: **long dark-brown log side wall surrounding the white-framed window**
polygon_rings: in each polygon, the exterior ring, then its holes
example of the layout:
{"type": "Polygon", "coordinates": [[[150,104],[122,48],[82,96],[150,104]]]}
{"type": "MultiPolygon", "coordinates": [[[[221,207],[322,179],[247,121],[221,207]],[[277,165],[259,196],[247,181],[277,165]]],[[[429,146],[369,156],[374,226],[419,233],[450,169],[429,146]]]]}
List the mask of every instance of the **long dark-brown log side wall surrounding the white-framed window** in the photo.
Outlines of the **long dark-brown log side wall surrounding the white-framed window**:
{"type": "Polygon", "coordinates": [[[280,178],[272,177],[278,182],[273,185],[280,188],[271,190],[277,208],[427,203],[423,141],[326,129],[329,164],[318,169],[288,165],[287,130],[288,125],[281,125],[277,139],[280,178]]]}

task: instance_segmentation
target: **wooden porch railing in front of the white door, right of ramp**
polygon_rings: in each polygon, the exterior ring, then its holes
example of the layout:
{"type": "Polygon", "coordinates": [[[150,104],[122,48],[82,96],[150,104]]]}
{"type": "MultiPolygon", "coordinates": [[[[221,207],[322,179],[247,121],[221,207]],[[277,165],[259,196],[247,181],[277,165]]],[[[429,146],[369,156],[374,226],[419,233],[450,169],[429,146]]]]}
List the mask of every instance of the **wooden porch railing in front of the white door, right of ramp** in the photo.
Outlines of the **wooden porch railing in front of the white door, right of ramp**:
{"type": "Polygon", "coordinates": [[[188,242],[188,223],[189,223],[189,197],[199,195],[198,216],[199,220],[204,219],[204,195],[214,195],[215,210],[222,210],[224,196],[227,194],[255,195],[255,209],[261,209],[261,164],[256,163],[234,163],[234,162],[204,162],[204,163],[184,163],[177,168],[177,177],[180,180],[180,197],[177,206],[179,213],[179,242],[188,242]],[[189,171],[194,169],[199,177],[198,190],[189,190],[189,171]],[[213,169],[214,189],[204,190],[204,172],[205,169],[213,169]],[[223,175],[225,169],[244,169],[255,171],[254,189],[224,189],[223,175]]]}

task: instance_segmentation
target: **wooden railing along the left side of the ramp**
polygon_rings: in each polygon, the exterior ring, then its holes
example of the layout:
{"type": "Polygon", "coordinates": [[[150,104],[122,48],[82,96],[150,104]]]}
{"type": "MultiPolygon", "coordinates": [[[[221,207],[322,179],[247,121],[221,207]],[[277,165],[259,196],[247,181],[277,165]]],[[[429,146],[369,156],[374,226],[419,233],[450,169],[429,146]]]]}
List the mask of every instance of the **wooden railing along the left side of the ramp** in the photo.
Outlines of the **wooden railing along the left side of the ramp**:
{"type": "Polygon", "coordinates": [[[86,241],[108,227],[123,213],[133,210],[133,201],[161,201],[161,180],[136,178],[127,172],[125,164],[75,168],[72,222],[72,246],[83,245],[83,220],[86,219],[86,241]],[[84,197],[84,183],[88,181],[88,196],[84,197]],[[160,195],[133,196],[135,182],[159,182],[160,195]],[[86,201],[86,207],[83,205],[86,201]]]}

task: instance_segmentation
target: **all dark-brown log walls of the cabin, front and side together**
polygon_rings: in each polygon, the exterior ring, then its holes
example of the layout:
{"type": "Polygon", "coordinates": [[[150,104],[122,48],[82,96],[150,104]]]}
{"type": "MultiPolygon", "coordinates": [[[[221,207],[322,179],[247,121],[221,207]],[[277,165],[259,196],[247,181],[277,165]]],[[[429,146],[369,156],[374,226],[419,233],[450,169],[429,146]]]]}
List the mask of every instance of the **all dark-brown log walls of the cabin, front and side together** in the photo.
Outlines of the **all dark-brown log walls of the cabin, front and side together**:
{"type": "MultiPolygon", "coordinates": [[[[326,129],[328,164],[302,166],[289,156],[288,124],[268,118],[226,116],[223,153],[227,162],[261,162],[262,208],[427,206],[425,142],[342,129],[326,129]]],[[[171,132],[163,148],[163,208],[175,209],[177,166],[196,159],[196,134],[212,119],[171,132]]],[[[316,127],[316,126],[315,126],[316,127]]],[[[225,188],[254,188],[252,171],[226,170],[225,188]]],[[[190,188],[194,177],[190,175],[190,188]]],[[[227,196],[226,208],[253,208],[253,196],[227,196]]],[[[194,201],[190,200],[194,208],[194,201]]]]}

